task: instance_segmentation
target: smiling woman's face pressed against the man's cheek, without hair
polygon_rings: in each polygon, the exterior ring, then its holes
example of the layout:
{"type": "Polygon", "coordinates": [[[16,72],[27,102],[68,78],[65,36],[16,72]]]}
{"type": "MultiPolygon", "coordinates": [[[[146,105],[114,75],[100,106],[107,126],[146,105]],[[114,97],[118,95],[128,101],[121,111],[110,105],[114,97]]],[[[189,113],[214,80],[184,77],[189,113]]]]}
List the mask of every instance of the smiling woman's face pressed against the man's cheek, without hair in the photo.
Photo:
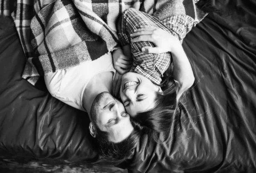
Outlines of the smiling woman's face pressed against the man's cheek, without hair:
{"type": "Polygon", "coordinates": [[[122,76],[120,96],[131,117],[154,108],[156,92],[159,91],[160,87],[140,74],[128,72],[122,76]]]}

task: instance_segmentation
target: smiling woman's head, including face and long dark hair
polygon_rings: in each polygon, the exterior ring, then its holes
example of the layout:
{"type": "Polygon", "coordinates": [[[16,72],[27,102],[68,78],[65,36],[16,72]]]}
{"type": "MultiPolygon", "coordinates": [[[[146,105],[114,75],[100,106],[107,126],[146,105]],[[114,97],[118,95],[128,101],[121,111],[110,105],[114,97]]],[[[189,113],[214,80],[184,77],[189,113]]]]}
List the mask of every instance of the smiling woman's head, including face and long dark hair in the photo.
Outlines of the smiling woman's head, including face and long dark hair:
{"type": "Polygon", "coordinates": [[[120,96],[126,111],[155,141],[160,133],[163,139],[169,136],[170,124],[175,113],[178,113],[177,93],[181,91],[178,90],[178,85],[171,75],[162,87],[134,72],[126,73],[122,77],[120,96]]]}

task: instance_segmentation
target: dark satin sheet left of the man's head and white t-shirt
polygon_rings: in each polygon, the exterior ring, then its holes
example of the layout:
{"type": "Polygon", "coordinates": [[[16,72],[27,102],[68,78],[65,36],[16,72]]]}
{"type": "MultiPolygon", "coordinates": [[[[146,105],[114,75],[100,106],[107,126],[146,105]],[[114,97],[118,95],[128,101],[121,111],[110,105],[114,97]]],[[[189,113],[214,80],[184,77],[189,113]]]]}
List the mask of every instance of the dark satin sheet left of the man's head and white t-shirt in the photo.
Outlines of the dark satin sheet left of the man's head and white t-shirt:
{"type": "Polygon", "coordinates": [[[97,159],[88,116],[22,79],[25,63],[13,20],[0,17],[0,156],[97,159]]]}

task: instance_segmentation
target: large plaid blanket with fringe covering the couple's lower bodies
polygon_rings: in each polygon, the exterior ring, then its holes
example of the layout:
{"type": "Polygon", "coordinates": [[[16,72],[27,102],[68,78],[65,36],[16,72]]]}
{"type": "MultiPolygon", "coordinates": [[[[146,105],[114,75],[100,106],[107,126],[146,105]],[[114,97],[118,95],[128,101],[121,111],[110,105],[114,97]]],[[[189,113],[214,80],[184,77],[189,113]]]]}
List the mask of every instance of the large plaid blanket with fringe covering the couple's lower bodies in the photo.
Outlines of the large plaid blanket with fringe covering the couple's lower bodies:
{"type": "Polygon", "coordinates": [[[40,76],[93,61],[119,43],[116,20],[130,7],[164,18],[175,9],[199,22],[198,0],[0,0],[0,14],[12,12],[27,57],[23,78],[40,76]]]}

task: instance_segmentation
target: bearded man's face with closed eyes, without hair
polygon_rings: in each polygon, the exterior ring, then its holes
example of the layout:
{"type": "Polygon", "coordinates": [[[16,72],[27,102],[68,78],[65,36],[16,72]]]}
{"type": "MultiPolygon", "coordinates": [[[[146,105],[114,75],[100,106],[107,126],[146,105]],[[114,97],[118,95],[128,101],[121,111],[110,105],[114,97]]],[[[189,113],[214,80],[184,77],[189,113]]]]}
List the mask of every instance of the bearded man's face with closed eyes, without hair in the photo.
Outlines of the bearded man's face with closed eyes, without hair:
{"type": "Polygon", "coordinates": [[[123,104],[108,92],[96,96],[91,108],[91,119],[96,119],[93,122],[100,130],[108,132],[111,142],[121,142],[134,130],[123,104]]]}

